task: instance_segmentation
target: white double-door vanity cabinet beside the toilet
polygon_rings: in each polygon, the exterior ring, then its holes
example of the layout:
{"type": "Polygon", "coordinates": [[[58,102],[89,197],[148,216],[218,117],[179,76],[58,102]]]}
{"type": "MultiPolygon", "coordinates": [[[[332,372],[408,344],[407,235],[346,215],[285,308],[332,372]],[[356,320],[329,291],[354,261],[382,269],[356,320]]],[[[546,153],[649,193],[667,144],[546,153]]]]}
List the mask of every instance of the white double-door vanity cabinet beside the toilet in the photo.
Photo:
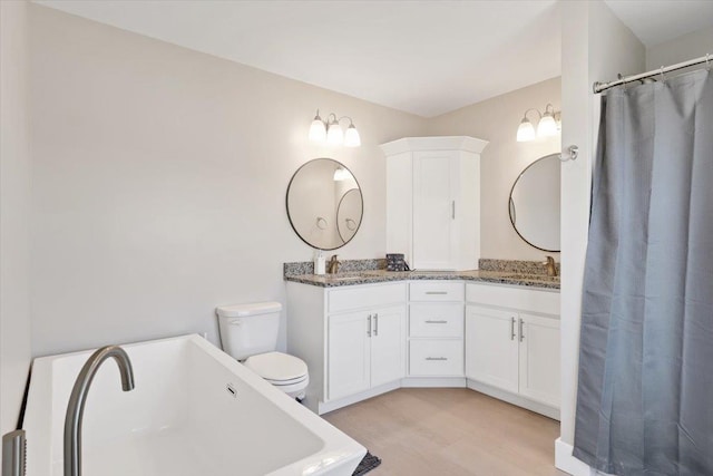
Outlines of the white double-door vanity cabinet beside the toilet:
{"type": "Polygon", "coordinates": [[[382,394],[406,376],[407,283],[287,282],[287,352],[303,359],[318,414],[382,394]]]}

